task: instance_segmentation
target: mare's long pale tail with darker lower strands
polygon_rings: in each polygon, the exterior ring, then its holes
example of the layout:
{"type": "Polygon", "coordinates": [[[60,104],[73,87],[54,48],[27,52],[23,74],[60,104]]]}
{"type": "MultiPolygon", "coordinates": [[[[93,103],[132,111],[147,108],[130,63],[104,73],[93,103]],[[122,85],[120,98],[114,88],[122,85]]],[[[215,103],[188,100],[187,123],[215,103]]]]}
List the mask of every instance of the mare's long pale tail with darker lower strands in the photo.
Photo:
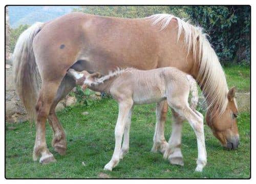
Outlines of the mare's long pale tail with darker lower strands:
{"type": "Polygon", "coordinates": [[[12,58],[16,92],[31,121],[36,117],[35,104],[41,80],[32,43],[43,24],[36,22],[19,36],[12,58]]]}

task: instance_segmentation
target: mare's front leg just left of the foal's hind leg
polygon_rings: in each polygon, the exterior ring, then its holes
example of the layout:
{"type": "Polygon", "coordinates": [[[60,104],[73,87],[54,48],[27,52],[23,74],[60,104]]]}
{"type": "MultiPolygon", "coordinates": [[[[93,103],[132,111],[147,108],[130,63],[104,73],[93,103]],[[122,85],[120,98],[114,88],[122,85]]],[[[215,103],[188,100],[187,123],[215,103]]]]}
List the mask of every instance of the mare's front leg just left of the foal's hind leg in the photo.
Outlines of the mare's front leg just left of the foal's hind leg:
{"type": "Polygon", "coordinates": [[[163,157],[169,159],[170,164],[184,166],[183,156],[181,153],[181,131],[184,118],[172,109],[173,122],[172,134],[168,141],[168,147],[164,152],[163,157]]]}

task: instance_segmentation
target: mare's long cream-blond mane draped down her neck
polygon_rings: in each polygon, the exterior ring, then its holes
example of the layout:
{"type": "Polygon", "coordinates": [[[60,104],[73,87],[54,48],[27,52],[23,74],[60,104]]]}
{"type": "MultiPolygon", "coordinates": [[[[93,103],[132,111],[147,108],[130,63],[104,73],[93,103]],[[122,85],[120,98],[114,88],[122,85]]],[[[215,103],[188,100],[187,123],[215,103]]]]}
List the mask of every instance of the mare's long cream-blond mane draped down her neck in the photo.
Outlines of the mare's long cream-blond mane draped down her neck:
{"type": "Polygon", "coordinates": [[[203,29],[170,14],[155,14],[145,19],[151,20],[153,25],[160,25],[160,31],[162,31],[168,27],[173,18],[177,20],[178,24],[177,43],[183,34],[187,54],[193,51],[194,62],[199,62],[197,82],[206,98],[208,108],[216,108],[222,114],[228,102],[226,77],[218,56],[212,49],[206,34],[202,32],[203,29]],[[199,60],[196,59],[198,53],[199,60]]]}

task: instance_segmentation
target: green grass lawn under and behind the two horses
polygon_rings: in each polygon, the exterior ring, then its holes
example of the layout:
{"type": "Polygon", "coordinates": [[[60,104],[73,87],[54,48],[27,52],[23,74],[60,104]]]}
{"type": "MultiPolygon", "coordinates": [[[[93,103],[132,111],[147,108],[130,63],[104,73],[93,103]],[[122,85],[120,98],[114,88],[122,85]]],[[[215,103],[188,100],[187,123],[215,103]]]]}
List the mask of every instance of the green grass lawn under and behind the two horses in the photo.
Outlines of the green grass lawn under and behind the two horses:
{"type": "MultiPolygon", "coordinates": [[[[243,71],[243,70],[241,70],[243,71]]],[[[242,78],[248,71],[242,72],[242,78]],[[244,74],[244,75],[243,75],[244,74]]],[[[236,67],[227,68],[228,83],[238,83],[236,67]],[[231,79],[232,78],[232,79],[231,79]]],[[[238,81],[239,80],[239,81],[238,81]]],[[[248,84],[248,83],[247,83],[248,84]]],[[[248,86],[239,83],[239,88],[248,86]]],[[[182,152],[184,167],[170,165],[160,153],[152,153],[155,127],[155,105],[135,106],[132,117],[129,153],[112,172],[103,167],[111,159],[114,146],[114,128],[118,105],[112,99],[89,100],[87,106],[68,107],[57,114],[66,130],[68,150],[60,156],[51,147],[52,130],[47,126],[49,150],[56,163],[40,165],[32,160],[35,126],[28,122],[6,124],[7,178],[249,178],[250,177],[250,113],[238,118],[241,144],[238,150],[224,150],[205,125],[207,165],[202,173],[195,172],[197,141],[194,131],[184,123],[182,152]],[[83,116],[81,112],[89,111],[83,116]],[[10,128],[15,126],[15,128],[10,128]],[[84,165],[82,164],[84,163],[84,165]]],[[[171,114],[165,125],[165,138],[171,131],[171,114]]]]}

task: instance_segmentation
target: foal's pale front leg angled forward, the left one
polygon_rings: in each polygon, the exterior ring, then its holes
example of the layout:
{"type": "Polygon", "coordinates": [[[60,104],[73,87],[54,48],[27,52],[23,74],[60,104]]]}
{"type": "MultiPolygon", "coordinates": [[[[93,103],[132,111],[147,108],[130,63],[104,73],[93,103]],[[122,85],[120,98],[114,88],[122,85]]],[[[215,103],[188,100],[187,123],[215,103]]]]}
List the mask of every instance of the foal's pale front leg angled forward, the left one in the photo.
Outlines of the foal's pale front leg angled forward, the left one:
{"type": "Polygon", "coordinates": [[[112,158],[108,164],[105,165],[104,170],[112,171],[114,167],[117,166],[120,160],[120,151],[121,151],[121,144],[122,144],[122,136],[125,124],[129,119],[129,112],[133,106],[132,100],[126,100],[119,102],[119,113],[118,119],[115,127],[115,150],[112,155],[112,158]]]}

